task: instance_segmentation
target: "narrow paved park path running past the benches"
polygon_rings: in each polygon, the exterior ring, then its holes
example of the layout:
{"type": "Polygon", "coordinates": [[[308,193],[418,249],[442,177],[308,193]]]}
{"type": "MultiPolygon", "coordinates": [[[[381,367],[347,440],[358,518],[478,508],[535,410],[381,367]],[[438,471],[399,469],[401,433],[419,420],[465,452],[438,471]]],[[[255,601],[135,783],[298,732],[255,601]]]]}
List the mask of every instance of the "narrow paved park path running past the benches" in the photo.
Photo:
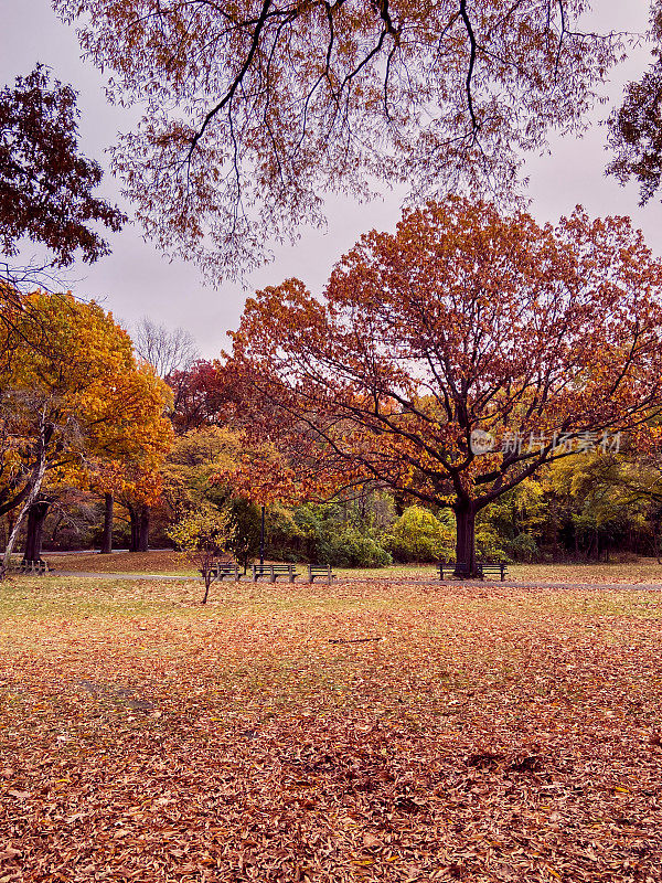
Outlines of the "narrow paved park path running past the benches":
{"type": "MultiPolygon", "coordinates": [[[[96,579],[163,579],[167,582],[200,582],[200,576],[173,576],[164,573],[93,573],[82,571],[55,571],[47,574],[49,576],[85,576],[95,577],[96,579]]],[[[249,581],[242,581],[245,585],[249,581]]],[[[648,592],[662,592],[662,583],[564,583],[564,582],[546,582],[538,579],[537,582],[521,583],[514,579],[506,579],[501,582],[499,579],[419,579],[415,577],[395,577],[380,579],[380,577],[363,576],[354,579],[340,578],[335,583],[373,583],[373,582],[388,582],[398,583],[402,585],[435,585],[435,586],[476,586],[476,587],[501,587],[501,588],[590,588],[590,589],[641,589],[648,592]]],[[[279,583],[282,585],[282,583],[279,583]]],[[[296,585],[309,585],[309,583],[298,582],[296,585]]],[[[324,583],[316,583],[313,585],[324,585],[324,583]]]]}

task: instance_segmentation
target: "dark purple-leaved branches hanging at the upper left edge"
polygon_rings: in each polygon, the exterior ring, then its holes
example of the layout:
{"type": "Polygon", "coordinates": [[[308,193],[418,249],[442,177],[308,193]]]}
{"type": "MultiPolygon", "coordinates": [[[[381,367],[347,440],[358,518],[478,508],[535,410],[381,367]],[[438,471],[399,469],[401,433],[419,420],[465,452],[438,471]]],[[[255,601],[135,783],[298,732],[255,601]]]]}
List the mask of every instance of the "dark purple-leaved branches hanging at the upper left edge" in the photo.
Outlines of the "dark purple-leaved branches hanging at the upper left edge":
{"type": "Polygon", "coordinates": [[[43,65],[0,91],[0,295],[34,287],[35,268],[10,263],[23,237],[49,249],[52,267],[78,253],[92,264],[110,251],[96,225],[116,232],[126,220],[93,193],[103,171],[78,150],[77,117],[76,93],[43,65]]]}

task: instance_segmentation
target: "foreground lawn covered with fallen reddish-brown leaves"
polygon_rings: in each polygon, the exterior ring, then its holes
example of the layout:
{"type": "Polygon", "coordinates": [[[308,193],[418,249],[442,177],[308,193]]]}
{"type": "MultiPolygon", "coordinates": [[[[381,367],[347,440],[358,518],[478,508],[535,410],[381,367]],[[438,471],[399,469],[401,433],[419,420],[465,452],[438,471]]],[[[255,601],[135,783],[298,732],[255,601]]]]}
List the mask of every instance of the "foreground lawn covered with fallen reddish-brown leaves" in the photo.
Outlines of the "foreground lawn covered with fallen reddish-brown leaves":
{"type": "Polygon", "coordinates": [[[1,883],[661,879],[660,593],[196,594],[0,589],[1,883]]]}

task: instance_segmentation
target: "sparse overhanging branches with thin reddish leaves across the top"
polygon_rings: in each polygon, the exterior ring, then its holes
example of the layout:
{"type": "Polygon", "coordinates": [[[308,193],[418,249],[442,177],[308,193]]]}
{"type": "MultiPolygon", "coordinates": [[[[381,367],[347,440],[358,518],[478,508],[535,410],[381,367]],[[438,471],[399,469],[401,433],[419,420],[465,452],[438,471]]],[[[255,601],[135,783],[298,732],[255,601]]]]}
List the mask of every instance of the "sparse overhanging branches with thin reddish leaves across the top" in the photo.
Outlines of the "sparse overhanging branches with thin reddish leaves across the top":
{"type": "Polygon", "coordinates": [[[584,0],[53,2],[143,108],[115,168],[147,234],[215,280],[322,223],[329,192],[511,192],[619,55],[584,0]]]}

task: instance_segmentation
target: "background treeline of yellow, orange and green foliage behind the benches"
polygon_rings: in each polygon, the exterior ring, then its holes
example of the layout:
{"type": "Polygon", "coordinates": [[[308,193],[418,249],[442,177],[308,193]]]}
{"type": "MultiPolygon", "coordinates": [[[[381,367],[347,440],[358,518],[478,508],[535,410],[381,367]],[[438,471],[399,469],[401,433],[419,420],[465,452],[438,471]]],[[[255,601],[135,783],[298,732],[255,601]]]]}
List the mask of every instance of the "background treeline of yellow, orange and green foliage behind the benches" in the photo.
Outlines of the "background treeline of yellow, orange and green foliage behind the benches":
{"type": "MultiPolygon", "coordinates": [[[[333,502],[291,502],[260,485],[260,460],[218,363],[181,331],[143,322],[134,343],[109,313],[66,295],[6,300],[0,542],[46,549],[170,546],[188,512],[227,518],[227,551],[378,567],[455,556],[455,515],[363,485],[333,502]],[[164,380],[136,349],[167,365],[164,380]],[[246,461],[255,464],[253,482],[246,461]],[[41,480],[39,476],[41,474],[41,480]],[[244,477],[244,483],[237,480],[244,477]],[[17,525],[19,530],[17,531],[17,525]]],[[[573,454],[479,514],[477,552],[509,561],[659,553],[662,470],[631,450],[573,454]]]]}

